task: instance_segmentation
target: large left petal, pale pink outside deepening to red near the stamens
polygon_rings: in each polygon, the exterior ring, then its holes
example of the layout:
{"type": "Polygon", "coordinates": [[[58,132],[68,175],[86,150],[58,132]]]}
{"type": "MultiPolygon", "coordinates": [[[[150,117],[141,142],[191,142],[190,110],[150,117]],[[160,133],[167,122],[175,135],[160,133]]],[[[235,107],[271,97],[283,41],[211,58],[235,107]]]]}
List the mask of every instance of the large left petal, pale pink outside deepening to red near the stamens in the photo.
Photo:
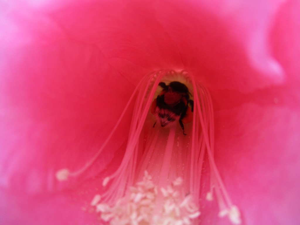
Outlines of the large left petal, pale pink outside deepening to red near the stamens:
{"type": "MultiPolygon", "coordinates": [[[[78,170],[98,151],[133,85],[91,45],[31,44],[3,56],[1,184],[30,193],[59,189],[56,171],[78,170]]],[[[125,134],[118,131],[94,173],[110,162],[125,134]]]]}

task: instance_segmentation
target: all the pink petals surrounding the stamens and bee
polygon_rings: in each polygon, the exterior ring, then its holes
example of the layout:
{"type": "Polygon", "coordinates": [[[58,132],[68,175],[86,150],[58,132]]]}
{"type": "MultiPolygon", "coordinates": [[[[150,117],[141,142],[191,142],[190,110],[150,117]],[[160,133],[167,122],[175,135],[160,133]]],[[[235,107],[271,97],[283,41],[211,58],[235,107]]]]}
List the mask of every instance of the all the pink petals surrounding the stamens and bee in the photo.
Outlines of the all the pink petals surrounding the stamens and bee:
{"type": "MultiPolygon", "coordinates": [[[[122,161],[133,104],[95,164],[66,182],[55,173],[84,167],[139,81],[168,68],[210,91],[214,160],[243,223],[297,224],[298,11],[297,1],[0,3],[0,223],[98,221],[88,206],[122,161]]],[[[230,223],[202,202],[201,223],[230,223]]]]}

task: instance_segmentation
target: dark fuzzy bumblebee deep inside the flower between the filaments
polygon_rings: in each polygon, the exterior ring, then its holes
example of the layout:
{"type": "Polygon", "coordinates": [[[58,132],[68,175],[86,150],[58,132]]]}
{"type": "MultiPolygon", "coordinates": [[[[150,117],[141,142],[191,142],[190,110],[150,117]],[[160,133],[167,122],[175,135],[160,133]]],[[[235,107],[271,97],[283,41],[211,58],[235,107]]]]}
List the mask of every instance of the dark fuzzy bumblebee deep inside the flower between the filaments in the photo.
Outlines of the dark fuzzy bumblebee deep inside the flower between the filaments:
{"type": "Polygon", "coordinates": [[[190,100],[187,86],[178,81],[170,82],[169,85],[160,82],[158,85],[163,90],[152,102],[151,113],[155,115],[156,121],[159,121],[162,127],[179,121],[185,136],[183,123],[189,123],[193,120],[194,108],[194,101],[190,100]]]}

